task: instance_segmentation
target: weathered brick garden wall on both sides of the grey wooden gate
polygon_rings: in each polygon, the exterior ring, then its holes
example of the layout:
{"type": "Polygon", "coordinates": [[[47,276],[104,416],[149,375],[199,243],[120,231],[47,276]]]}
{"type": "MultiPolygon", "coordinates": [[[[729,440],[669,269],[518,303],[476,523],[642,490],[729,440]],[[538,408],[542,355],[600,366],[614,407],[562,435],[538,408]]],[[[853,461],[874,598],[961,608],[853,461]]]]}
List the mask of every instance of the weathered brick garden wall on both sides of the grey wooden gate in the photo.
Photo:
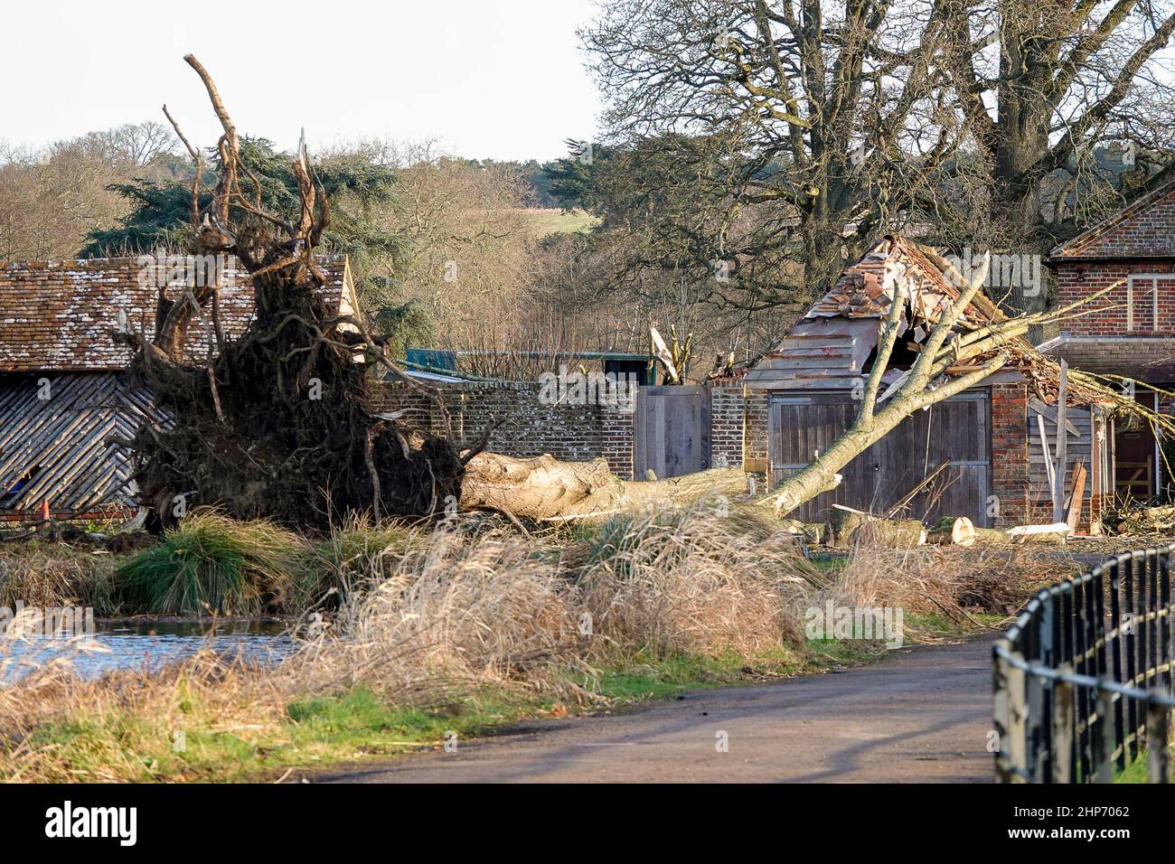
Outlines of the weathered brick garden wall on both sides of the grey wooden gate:
{"type": "MultiPolygon", "coordinates": [[[[537,382],[470,382],[441,384],[454,431],[464,443],[478,440],[485,427],[501,420],[489,448],[506,456],[544,453],[569,462],[604,457],[620,477],[632,480],[633,415],[623,401],[615,404],[549,404],[537,382]]],[[[743,464],[743,384],[711,388],[710,464],[743,464]]],[[[431,398],[401,383],[375,388],[376,410],[403,411],[402,418],[421,430],[439,433],[441,417],[431,398]]],[[[606,402],[606,400],[600,400],[606,402]]],[[[766,429],[764,401],[764,430],[766,429]]],[[[764,440],[766,433],[764,431],[764,440]]]]}

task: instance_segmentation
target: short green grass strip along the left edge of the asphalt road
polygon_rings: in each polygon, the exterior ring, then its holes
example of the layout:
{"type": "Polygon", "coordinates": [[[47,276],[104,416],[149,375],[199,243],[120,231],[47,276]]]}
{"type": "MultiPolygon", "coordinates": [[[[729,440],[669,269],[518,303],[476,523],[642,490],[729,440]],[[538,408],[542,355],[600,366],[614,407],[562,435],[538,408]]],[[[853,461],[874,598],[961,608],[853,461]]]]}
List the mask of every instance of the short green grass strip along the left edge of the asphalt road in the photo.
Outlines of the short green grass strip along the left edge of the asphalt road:
{"type": "MultiPolygon", "coordinates": [[[[885,649],[875,643],[813,642],[805,651],[780,651],[754,659],[736,654],[673,655],[649,662],[638,657],[573,683],[616,706],[671,698],[685,690],[818,672],[884,654],[885,649]]],[[[114,710],[48,724],[29,743],[34,748],[51,746],[55,754],[55,764],[65,777],[47,779],[240,782],[276,779],[289,769],[313,772],[374,757],[434,750],[452,735],[461,742],[492,735],[525,718],[563,717],[580,710],[596,709],[496,691],[437,710],[403,710],[357,688],[345,695],[293,701],[277,723],[227,723],[209,716],[200,704],[184,703],[177,729],[148,724],[114,710]],[[182,744],[177,745],[177,741],[182,744]]]]}

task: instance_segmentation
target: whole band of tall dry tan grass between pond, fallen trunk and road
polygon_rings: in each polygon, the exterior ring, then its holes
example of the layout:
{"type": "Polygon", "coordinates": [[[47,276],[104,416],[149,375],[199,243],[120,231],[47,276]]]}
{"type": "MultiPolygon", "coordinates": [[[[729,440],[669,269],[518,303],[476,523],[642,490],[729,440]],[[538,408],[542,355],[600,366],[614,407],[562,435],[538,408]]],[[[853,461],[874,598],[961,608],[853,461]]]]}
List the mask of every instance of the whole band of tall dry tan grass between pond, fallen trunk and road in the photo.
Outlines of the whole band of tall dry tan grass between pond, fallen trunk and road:
{"type": "Polygon", "coordinates": [[[0,688],[0,778],[187,776],[190,757],[168,746],[176,730],[189,748],[224,730],[270,746],[293,703],[360,689],[397,710],[478,694],[583,701],[600,663],[786,652],[801,644],[798,597],[820,577],[750,518],[709,505],[642,514],[570,549],[501,530],[363,542],[350,525],[315,560],[364,590],[324,631],[303,624],[298,652],[276,667],[203,654],[86,681],[55,663],[0,688]]]}

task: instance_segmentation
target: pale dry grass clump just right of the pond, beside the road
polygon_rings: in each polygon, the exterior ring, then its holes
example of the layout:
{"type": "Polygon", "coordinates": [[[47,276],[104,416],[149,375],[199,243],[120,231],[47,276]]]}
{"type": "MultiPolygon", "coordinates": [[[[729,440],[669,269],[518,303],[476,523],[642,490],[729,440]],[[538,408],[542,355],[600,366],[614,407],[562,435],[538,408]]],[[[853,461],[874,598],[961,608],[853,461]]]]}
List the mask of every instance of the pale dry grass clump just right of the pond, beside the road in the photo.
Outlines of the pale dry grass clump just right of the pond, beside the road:
{"type": "MultiPolygon", "coordinates": [[[[388,561],[372,560],[381,572],[388,561]]],[[[575,662],[571,588],[532,543],[438,530],[357,592],[300,655],[309,692],[362,685],[397,704],[437,704],[481,685],[551,685],[575,662]]]]}

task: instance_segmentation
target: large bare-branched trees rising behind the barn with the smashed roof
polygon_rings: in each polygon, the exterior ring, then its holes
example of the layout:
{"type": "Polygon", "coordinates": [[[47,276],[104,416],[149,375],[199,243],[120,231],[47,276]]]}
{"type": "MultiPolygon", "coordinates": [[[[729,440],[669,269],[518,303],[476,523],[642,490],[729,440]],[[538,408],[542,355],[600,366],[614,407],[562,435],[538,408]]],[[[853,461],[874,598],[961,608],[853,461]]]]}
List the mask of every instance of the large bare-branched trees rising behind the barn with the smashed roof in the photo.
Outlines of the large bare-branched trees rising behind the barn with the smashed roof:
{"type": "MultiPolygon", "coordinates": [[[[787,249],[803,282],[778,287],[811,296],[882,227],[1046,249],[1107,196],[1093,165],[1107,142],[1143,154],[1132,189],[1157,180],[1169,6],[612,0],[583,38],[613,140],[679,134],[726,167],[696,263],[787,249]],[[741,237],[727,230],[763,207],[741,237]]],[[[751,290],[763,283],[736,280],[725,299],[751,290]]]]}

